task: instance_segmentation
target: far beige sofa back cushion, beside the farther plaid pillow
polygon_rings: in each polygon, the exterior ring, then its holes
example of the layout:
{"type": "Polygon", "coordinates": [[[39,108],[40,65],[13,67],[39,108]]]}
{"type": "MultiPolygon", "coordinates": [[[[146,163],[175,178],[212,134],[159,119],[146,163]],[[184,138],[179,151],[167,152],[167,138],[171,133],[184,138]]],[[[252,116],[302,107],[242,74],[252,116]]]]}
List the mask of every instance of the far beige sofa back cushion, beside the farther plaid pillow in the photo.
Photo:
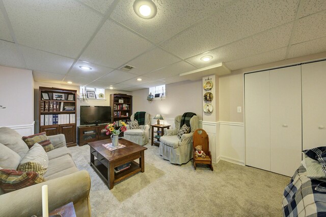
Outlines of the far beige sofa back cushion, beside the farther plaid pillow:
{"type": "Polygon", "coordinates": [[[0,128],[0,143],[19,154],[20,157],[29,151],[29,147],[21,139],[21,135],[9,127],[0,128]]]}

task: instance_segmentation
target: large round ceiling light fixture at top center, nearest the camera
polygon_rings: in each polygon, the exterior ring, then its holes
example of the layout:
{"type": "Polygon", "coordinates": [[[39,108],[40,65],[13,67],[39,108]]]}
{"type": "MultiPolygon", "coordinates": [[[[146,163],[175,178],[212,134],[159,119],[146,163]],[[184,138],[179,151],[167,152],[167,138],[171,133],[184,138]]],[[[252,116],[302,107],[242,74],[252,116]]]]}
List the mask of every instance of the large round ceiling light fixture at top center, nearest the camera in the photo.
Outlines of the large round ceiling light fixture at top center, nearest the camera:
{"type": "Polygon", "coordinates": [[[156,5],[151,0],[136,0],[133,3],[134,12],[144,19],[151,19],[157,13],[156,5]]]}

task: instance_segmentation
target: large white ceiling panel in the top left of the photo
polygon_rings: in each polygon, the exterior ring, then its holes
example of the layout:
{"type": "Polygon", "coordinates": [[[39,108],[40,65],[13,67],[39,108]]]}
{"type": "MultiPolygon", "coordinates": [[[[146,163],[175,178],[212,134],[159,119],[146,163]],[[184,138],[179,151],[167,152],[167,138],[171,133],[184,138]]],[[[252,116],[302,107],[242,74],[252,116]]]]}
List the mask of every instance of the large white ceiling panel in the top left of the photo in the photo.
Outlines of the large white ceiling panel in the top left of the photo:
{"type": "Polygon", "coordinates": [[[19,44],[70,58],[79,55],[102,18],[72,0],[4,4],[19,44]]]}

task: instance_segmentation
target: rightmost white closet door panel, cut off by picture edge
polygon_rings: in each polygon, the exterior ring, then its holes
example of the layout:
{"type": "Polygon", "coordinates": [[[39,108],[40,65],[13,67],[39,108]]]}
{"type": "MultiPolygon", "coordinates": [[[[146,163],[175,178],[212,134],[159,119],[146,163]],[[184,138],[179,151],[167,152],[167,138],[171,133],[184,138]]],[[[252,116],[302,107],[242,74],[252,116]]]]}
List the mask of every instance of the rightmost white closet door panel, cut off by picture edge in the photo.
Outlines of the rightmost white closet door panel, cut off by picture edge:
{"type": "Polygon", "coordinates": [[[303,150],[326,145],[326,61],[302,65],[303,150]]]}

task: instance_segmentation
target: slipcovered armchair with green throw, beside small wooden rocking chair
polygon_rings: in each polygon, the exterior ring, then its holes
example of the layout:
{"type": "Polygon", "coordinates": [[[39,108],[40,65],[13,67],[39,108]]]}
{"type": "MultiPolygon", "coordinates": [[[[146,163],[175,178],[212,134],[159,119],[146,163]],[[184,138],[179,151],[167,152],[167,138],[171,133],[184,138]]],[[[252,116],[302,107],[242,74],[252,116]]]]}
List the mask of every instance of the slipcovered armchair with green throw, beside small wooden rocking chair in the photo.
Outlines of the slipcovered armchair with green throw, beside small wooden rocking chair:
{"type": "Polygon", "coordinates": [[[160,137],[158,152],[171,164],[185,164],[193,158],[193,134],[198,128],[199,118],[197,115],[190,119],[189,133],[181,135],[178,138],[182,115],[178,115],[175,120],[175,129],[165,129],[164,135],[160,137]]]}

